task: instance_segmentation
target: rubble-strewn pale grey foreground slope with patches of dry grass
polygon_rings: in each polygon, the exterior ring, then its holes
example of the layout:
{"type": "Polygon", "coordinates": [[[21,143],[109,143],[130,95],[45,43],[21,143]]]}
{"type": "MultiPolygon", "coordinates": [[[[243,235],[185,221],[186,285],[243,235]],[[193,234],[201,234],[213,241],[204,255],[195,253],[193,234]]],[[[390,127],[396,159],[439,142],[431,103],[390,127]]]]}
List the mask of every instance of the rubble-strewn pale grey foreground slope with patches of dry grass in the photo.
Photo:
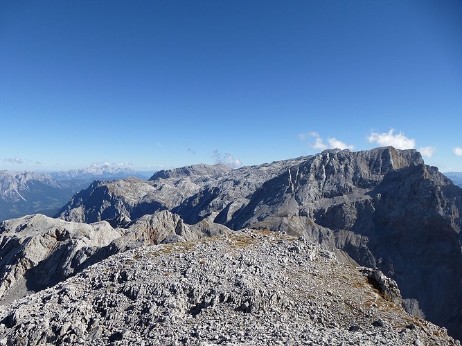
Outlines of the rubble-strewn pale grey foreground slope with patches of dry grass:
{"type": "Polygon", "coordinates": [[[1,345],[458,345],[396,283],[242,230],[141,246],[0,307],[1,345]]]}

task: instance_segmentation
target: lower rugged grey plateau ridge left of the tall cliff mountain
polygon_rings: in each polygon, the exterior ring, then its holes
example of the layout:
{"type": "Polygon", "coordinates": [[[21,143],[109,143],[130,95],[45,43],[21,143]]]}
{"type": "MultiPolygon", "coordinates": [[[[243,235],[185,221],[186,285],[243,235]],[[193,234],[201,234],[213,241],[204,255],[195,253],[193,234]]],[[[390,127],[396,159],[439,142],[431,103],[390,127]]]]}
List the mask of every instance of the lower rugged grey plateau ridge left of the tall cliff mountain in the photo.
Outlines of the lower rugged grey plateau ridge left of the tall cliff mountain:
{"type": "Polygon", "coordinates": [[[302,161],[296,158],[238,170],[224,164],[194,165],[159,171],[150,181],[98,181],[75,194],[56,217],[87,223],[108,220],[121,226],[116,222],[121,215],[136,219],[167,209],[179,213],[186,224],[203,219],[225,224],[265,181],[302,161]]]}

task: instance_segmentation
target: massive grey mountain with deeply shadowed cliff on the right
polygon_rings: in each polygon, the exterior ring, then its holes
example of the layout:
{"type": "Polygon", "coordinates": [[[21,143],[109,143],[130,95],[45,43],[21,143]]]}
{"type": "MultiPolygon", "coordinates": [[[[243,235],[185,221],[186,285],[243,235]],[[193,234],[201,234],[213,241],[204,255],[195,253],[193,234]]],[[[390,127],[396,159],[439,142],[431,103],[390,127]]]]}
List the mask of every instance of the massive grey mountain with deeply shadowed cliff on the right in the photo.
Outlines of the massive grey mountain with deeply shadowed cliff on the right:
{"type": "Polygon", "coordinates": [[[335,246],[393,277],[409,310],[461,338],[461,211],[461,189],[417,152],[385,148],[325,152],[290,167],[228,226],[286,230],[335,246]]]}

